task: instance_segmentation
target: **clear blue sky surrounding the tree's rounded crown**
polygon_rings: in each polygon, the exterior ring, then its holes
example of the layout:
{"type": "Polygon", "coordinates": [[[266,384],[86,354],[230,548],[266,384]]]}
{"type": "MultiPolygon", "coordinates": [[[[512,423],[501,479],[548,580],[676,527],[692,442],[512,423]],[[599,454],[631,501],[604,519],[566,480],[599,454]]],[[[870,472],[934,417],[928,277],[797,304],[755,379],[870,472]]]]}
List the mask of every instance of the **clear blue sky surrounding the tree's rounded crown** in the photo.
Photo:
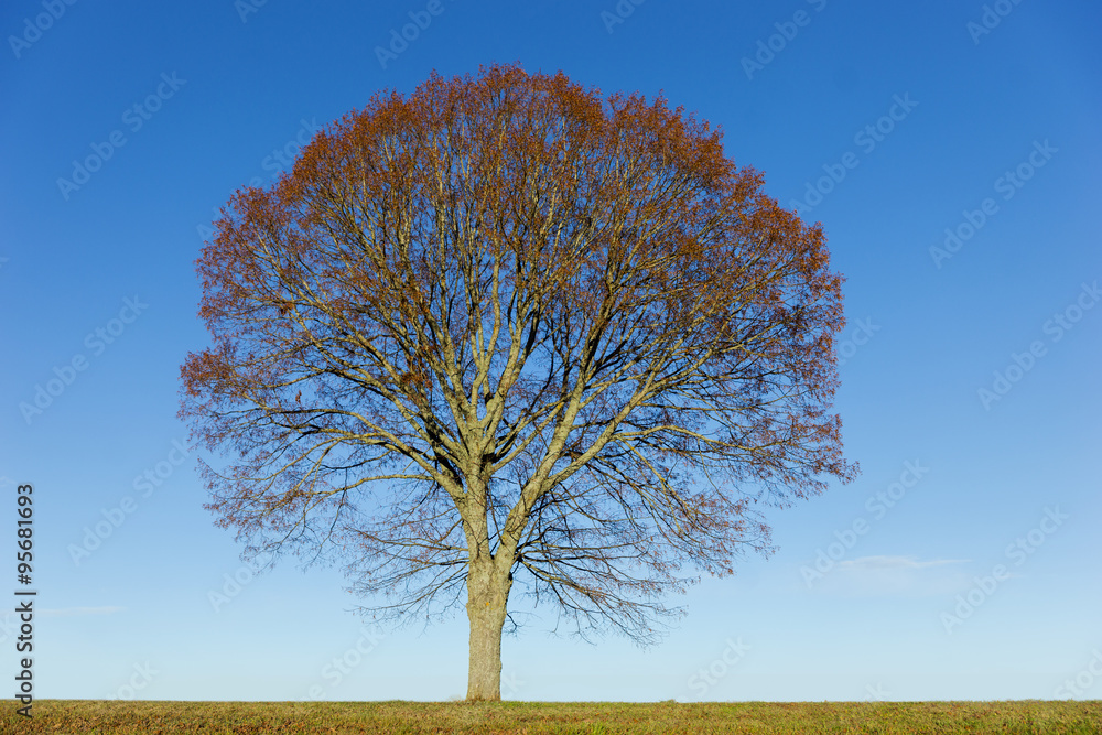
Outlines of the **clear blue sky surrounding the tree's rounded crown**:
{"type": "Polygon", "coordinates": [[[1100,28],[1068,0],[4,3],[0,541],[33,483],[36,693],[463,695],[463,617],[372,629],[336,570],[242,566],[176,448],[177,375],[235,188],[379,89],[519,62],[663,91],[822,223],[863,474],[769,510],[779,551],[672,599],[657,648],[543,612],[503,695],[1102,698],[1100,28]]]}

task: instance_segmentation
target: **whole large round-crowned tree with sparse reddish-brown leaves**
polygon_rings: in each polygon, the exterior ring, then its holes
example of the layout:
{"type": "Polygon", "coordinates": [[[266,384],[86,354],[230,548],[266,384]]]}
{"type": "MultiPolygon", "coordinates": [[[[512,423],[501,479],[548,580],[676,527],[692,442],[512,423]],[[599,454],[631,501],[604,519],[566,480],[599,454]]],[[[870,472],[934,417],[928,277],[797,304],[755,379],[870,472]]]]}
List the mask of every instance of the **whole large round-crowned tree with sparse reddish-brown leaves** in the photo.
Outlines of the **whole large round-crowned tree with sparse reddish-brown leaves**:
{"type": "Polygon", "coordinates": [[[465,603],[468,700],[500,699],[515,582],[649,640],[667,593],[770,549],[758,504],[855,472],[842,279],[761,186],[706,122],[562,74],[377,95],[203,250],[208,507],[376,613],[465,603]]]}

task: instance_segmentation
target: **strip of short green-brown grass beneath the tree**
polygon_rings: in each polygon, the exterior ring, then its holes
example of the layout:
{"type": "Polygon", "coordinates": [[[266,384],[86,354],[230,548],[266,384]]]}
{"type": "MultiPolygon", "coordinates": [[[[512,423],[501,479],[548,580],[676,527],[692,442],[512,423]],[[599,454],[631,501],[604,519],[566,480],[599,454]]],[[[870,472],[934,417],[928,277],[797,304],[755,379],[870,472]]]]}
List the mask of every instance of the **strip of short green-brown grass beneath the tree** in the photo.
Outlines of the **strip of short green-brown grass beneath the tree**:
{"type": "Polygon", "coordinates": [[[1102,701],[653,704],[9,701],[0,732],[107,733],[1102,733],[1102,701]]]}

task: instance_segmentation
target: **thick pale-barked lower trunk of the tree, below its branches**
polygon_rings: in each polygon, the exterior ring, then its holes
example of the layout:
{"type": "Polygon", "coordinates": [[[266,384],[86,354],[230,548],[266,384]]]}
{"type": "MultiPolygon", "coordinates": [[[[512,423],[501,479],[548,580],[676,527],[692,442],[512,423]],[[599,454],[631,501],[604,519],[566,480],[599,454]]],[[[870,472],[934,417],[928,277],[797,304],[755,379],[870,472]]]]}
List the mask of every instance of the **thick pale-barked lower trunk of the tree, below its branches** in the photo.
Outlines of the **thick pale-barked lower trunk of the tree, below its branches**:
{"type": "Polygon", "coordinates": [[[471,620],[471,662],[467,701],[501,700],[501,628],[511,575],[501,575],[489,564],[472,564],[467,576],[467,618],[471,620]]]}

